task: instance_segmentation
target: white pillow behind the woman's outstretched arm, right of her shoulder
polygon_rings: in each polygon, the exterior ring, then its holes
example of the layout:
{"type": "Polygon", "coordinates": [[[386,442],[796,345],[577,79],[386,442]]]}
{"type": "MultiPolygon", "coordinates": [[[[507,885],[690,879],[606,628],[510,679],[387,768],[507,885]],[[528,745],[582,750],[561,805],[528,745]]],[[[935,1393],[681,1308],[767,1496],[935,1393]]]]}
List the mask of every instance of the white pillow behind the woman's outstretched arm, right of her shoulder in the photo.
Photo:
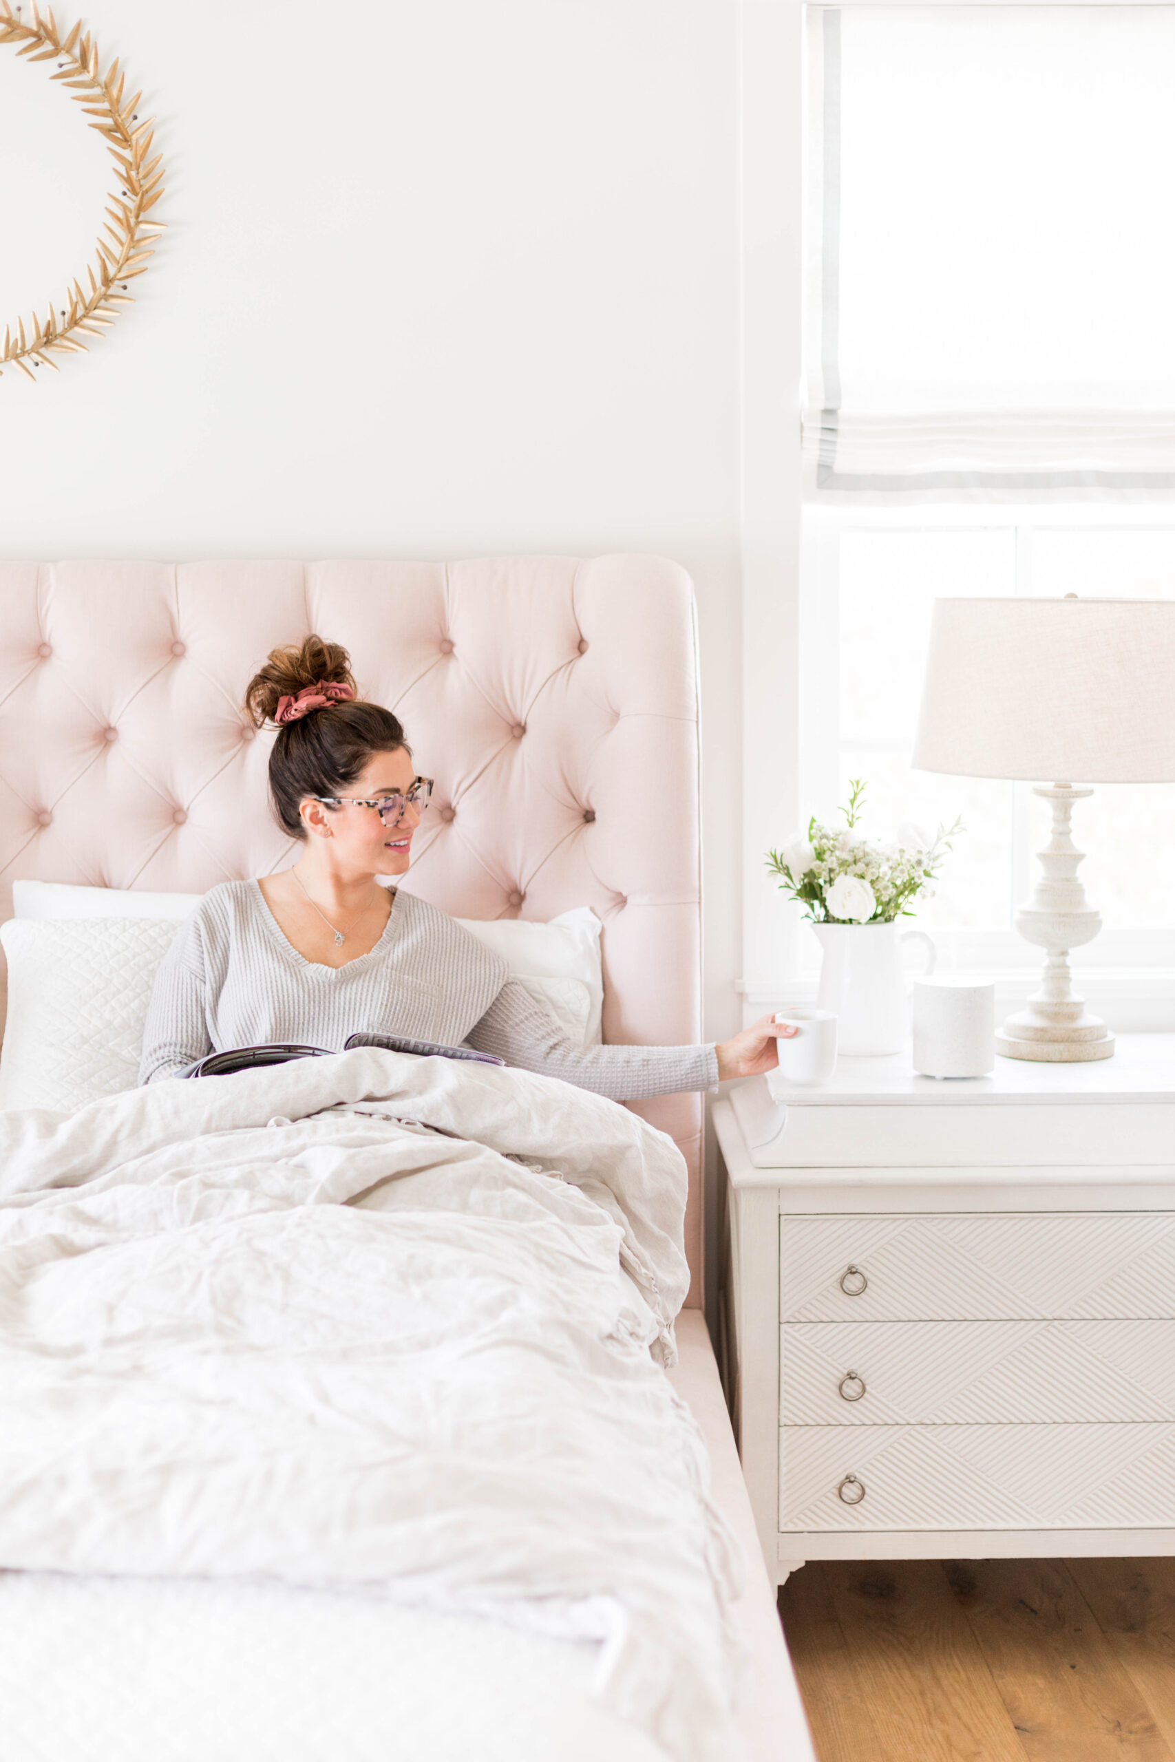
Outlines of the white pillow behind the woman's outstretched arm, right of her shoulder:
{"type": "Polygon", "coordinates": [[[599,951],[602,923],[590,906],[576,906],[550,923],[525,918],[458,918],[465,930],[491,948],[544,1004],[564,1033],[583,1047],[599,1047],[604,1010],[604,971],[599,951]]]}

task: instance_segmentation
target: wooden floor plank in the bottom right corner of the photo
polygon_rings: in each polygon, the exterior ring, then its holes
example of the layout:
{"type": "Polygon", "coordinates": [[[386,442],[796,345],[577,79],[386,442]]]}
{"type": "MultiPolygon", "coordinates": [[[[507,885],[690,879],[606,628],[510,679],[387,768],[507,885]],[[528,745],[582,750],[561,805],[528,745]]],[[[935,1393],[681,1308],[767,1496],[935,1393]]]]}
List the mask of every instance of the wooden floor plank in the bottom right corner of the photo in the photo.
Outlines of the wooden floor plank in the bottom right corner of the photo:
{"type": "Polygon", "coordinates": [[[1175,1750],[1175,1559],[1066,1565],[1168,1748],[1175,1750]]]}

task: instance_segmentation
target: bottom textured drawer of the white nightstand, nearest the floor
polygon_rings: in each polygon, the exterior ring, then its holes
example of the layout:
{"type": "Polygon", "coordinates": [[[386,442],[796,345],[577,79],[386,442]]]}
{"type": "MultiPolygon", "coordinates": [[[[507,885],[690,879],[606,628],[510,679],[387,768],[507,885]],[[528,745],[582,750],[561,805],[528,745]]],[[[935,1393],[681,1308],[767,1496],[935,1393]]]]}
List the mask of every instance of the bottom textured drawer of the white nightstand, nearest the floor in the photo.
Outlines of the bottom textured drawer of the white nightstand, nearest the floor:
{"type": "Polygon", "coordinates": [[[780,1529],[1175,1526],[1175,1425],[786,1425],[780,1529]]]}

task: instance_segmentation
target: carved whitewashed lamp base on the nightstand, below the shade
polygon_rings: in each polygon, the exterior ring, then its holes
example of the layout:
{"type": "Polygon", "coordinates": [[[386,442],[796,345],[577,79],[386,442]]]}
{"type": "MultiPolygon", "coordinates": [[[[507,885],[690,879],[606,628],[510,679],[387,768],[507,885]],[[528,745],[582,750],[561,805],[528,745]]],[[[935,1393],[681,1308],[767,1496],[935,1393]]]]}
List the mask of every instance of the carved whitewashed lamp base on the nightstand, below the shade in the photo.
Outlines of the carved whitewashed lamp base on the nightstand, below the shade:
{"type": "Polygon", "coordinates": [[[1078,851],[1069,833],[1073,803],[1092,789],[1073,789],[1068,782],[1052,789],[1034,789],[1053,805],[1052,837],[1039,853],[1043,874],[1032,899],[1016,913],[1016,929],[1045,953],[1041,988],[1027,1008],[1009,1015],[995,1034],[995,1050],[1006,1059],[1038,1059],[1041,1064],[1076,1064],[1113,1055],[1113,1034],[1099,1015],[1090,1015],[1085,1001],[1073,992],[1069,950],[1092,943],[1101,929],[1101,913],[1085,899],[1078,881],[1078,851]]]}

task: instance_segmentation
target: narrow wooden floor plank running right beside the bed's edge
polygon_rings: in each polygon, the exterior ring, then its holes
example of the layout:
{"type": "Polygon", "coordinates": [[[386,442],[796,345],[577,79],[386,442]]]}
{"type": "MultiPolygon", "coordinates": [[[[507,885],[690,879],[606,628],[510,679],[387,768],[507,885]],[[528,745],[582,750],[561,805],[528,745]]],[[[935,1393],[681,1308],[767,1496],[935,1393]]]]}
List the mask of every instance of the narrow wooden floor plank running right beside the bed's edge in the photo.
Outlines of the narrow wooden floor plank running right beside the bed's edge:
{"type": "Polygon", "coordinates": [[[819,1561],[791,1573],[779,1612],[819,1762],[872,1762],[877,1732],[819,1561]]]}

